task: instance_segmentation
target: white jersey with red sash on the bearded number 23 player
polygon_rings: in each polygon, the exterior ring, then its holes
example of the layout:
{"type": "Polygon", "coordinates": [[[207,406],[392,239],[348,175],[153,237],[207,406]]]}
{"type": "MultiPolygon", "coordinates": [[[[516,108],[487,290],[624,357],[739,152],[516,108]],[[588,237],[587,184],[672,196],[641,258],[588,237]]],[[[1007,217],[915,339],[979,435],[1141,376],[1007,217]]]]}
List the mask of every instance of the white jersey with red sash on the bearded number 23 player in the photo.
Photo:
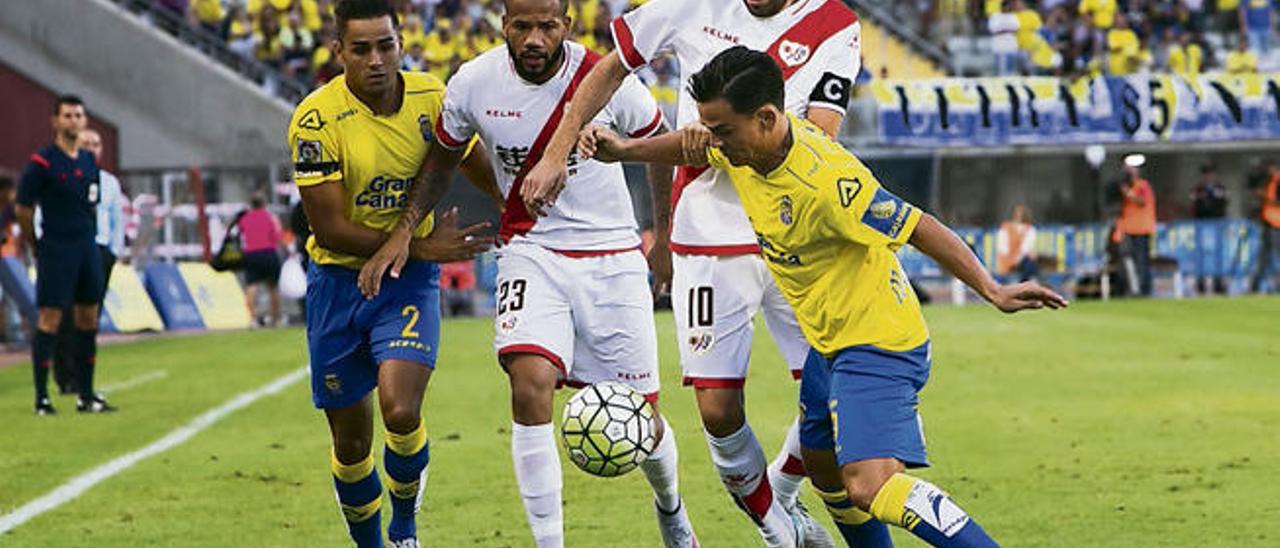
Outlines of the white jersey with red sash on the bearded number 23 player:
{"type": "MultiPolygon", "coordinates": [[[[436,123],[439,141],[457,149],[479,134],[485,146],[507,211],[499,234],[556,251],[616,251],[640,245],[631,195],[620,164],[568,159],[564,192],[548,215],[534,219],[520,198],[527,170],[538,163],[579,83],[599,56],[564,42],[564,64],[552,79],[526,82],[506,47],[495,47],[463,64],[449,81],[444,110],[436,123]]],[[[649,90],[628,77],[595,123],[631,137],[649,137],[662,127],[662,113],[649,90]]]]}

